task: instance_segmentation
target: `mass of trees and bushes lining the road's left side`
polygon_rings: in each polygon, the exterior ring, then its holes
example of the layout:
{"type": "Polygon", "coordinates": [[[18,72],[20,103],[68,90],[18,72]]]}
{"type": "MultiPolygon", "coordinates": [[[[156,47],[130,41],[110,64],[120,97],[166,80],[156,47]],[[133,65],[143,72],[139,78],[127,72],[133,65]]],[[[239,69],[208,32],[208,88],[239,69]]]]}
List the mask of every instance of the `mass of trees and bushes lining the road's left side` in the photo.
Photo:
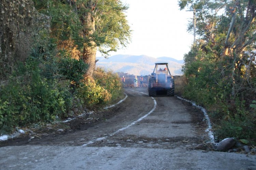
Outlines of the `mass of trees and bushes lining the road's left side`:
{"type": "Polygon", "coordinates": [[[126,9],[116,0],[2,0],[0,133],[122,96],[118,75],[95,63],[97,49],[108,56],[129,42],[126,9]]]}

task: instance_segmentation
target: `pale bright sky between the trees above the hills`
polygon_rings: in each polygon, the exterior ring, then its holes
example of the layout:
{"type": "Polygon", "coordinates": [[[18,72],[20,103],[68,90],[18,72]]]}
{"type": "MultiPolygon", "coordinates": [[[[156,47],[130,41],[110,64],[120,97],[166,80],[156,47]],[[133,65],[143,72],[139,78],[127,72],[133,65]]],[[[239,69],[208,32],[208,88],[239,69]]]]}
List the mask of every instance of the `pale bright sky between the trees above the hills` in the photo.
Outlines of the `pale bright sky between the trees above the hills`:
{"type": "MultiPolygon", "coordinates": [[[[182,60],[193,43],[193,34],[187,24],[193,12],[180,11],[177,0],[122,0],[129,5],[127,19],[132,32],[132,41],[117,54],[168,56],[182,60]]],[[[100,53],[97,53],[100,56],[100,53]]]]}

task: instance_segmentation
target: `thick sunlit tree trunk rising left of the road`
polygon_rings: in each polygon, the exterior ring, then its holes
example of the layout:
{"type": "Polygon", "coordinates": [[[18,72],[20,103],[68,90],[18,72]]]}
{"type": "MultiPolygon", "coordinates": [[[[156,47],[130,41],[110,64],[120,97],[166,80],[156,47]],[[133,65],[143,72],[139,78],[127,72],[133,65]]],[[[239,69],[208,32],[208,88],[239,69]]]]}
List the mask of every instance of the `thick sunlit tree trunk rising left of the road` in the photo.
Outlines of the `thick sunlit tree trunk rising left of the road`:
{"type": "Polygon", "coordinates": [[[83,61],[88,64],[87,75],[92,76],[95,70],[95,60],[96,60],[96,44],[91,35],[95,32],[95,19],[91,13],[86,13],[83,20],[84,24],[84,38],[89,38],[89,43],[84,44],[84,49],[82,53],[83,61]]]}

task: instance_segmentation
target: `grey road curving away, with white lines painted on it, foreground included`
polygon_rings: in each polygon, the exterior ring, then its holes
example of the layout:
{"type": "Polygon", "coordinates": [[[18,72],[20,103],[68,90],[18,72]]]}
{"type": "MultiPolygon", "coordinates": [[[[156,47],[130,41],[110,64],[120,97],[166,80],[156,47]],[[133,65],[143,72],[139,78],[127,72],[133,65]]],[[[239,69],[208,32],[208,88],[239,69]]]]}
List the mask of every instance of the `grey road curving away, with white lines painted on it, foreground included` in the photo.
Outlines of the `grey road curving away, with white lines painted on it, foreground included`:
{"type": "Polygon", "coordinates": [[[256,169],[255,155],[214,152],[203,113],[189,103],[125,92],[99,121],[2,142],[0,169],[256,169]]]}

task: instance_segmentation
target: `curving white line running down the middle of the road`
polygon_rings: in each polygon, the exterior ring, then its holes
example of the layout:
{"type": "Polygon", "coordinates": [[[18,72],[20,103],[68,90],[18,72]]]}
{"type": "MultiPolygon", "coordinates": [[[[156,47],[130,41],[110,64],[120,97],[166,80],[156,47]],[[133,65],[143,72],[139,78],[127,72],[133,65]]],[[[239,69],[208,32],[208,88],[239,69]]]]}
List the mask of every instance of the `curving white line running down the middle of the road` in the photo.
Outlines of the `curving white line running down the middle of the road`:
{"type": "MultiPolygon", "coordinates": [[[[134,91],[134,90],[131,90],[131,91],[134,91]]],[[[136,91],[136,92],[139,92],[139,91],[136,91]]],[[[145,94],[145,93],[143,93],[143,92],[139,92],[139,93],[145,94]]],[[[145,94],[145,95],[147,95],[147,94],[145,94]]],[[[142,116],[142,117],[139,118],[138,120],[132,122],[131,124],[125,126],[124,128],[118,129],[117,131],[111,133],[109,136],[113,136],[113,135],[115,135],[115,134],[117,134],[117,133],[119,133],[119,132],[121,132],[121,131],[123,131],[123,130],[129,128],[130,126],[132,126],[132,125],[138,123],[139,121],[141,121],[142,119],[144,119],[145,117],[147,117],[148,115],[150,115],[151,113],[153,113],[153,112],[155,111],[155,109],[156,109],[156,105],[157,105],[157,104],[156,104],[156,100],[155,100],[153,97],[151,97],[151,98],[154,100],[154,107],[153,107],[153,109],[152,109],[150,112],[148,112],[146,115],[142,116]]],[[[92,143],[98,142],[98,141],[100,141],[100,140],[104,140],[104,139],[106,139],[106,138],[108,138],[108,136],[100,137],[100,138],[91,140],[91,141],[85,143],[85,144],[82,145],[82,146],[83,146],[83,147],[86,147],[86,146],[88,146],[88,145],[90,145],[90,144],[92,144],[92,143]]]]}

